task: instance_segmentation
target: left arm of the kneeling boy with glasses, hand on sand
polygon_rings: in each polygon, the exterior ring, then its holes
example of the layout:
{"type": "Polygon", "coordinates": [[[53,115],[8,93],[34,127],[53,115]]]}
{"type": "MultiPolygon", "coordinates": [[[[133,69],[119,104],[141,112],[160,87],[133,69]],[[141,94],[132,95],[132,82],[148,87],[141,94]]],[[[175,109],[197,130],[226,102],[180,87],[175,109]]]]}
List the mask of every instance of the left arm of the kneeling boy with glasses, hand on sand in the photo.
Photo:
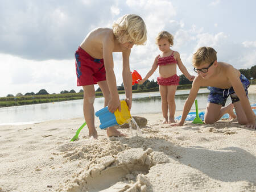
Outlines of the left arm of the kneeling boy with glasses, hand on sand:
{"type": "Polygon", "coordinates": [[[195,99],[196,99],[196,95],[199,91],[199,88],[200,88],[200,81],[199,80],[199,76],[197,76],[195,78],[195,80],[193,81],[193,84],[192,84],[192,87],[191,87],[191,90],[189,92],[189,95],[188,95],[188,98],[187,100],[185,101],[185,105],[183,107],[183,112],[182,112],[182,116],[181,116],[181,119],[180,119],[180,122],[179,123],[175,123],[175,124],[171,124],[171,126],[183,126],[184,122],[185,122],[185,119],[187,118],[187,115],[188,115],[188,112],[190,111],[195,99]]]}

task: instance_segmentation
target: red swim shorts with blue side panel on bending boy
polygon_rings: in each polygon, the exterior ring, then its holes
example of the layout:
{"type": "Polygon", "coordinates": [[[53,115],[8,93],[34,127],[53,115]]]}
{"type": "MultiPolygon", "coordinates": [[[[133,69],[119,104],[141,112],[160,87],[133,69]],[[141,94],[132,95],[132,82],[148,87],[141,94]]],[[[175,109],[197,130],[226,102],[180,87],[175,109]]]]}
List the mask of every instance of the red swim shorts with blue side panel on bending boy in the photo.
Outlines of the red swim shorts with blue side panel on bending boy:
{"type": "Polygon", "coordinates": [[[75,53],[77,86],[93,85],[106,80],[103,59],[94,59],[79,47],[75,53]]]}

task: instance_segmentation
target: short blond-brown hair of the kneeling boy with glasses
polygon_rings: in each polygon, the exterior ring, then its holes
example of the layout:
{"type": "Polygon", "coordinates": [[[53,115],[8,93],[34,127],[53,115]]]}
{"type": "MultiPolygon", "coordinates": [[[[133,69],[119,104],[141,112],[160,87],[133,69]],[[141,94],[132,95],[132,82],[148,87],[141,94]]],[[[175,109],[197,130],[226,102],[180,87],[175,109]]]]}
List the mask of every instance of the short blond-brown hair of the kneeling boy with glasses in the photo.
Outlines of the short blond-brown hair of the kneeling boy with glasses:
{"type": "Polygon", "coordinates": [[[192,64],[199,67],[201,64],[210,64],[215,60],[217,60],[217,52],[212,47],[200,47],[193,54],[192,64]]]}

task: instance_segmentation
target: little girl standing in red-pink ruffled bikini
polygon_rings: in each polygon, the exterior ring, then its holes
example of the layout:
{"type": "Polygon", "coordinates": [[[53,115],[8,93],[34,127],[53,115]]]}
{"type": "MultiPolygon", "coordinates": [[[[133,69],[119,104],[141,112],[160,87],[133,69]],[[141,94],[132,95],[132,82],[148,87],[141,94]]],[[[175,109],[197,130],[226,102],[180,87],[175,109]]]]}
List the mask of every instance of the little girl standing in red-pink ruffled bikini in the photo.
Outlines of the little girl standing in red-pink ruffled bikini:
{"type": "Polygon", "coordinates": [[[152,68],[138,84],[143,84],[158,68],[160,77],[157,78],[159,85],[160,95],[162,98],[162,112],[164,121],[163,123],[174,123],[174,114],[176,110],[175,105],[175,92],[177,85],[179,85],[179,76],[176,74],[176,65],[179,66],[181,72],[188,78],[189,81],[193,81],[195,76],[191,76],[188,70],[183,65],[180,54],[170,49],[174,44],[174,37],[167,31],[159,32],[156,37],[156,44],[159,50],[162,52],[160,55],[155,57],[155,61],[152,68]],[[168,109],[169,109],[169,121],[168,121],[168,109]]]}

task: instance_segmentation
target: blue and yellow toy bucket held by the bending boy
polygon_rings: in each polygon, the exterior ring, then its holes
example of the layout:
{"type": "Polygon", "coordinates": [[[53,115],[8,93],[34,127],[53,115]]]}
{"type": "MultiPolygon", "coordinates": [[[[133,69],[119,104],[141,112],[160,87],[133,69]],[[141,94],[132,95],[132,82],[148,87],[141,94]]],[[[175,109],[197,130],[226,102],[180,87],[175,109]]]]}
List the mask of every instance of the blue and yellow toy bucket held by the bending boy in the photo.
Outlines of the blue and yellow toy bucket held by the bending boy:
{"type": "Polygon", "coordinates": [[[131,114],[128,109],[126,101],[121,101],[121,111],[118,109],[114,113],[108,110],[108,106],[102,108],[95,113],[100,119],[100,128],[103,130],[108,127],[129,123],[131,120],[131,114]]]}

